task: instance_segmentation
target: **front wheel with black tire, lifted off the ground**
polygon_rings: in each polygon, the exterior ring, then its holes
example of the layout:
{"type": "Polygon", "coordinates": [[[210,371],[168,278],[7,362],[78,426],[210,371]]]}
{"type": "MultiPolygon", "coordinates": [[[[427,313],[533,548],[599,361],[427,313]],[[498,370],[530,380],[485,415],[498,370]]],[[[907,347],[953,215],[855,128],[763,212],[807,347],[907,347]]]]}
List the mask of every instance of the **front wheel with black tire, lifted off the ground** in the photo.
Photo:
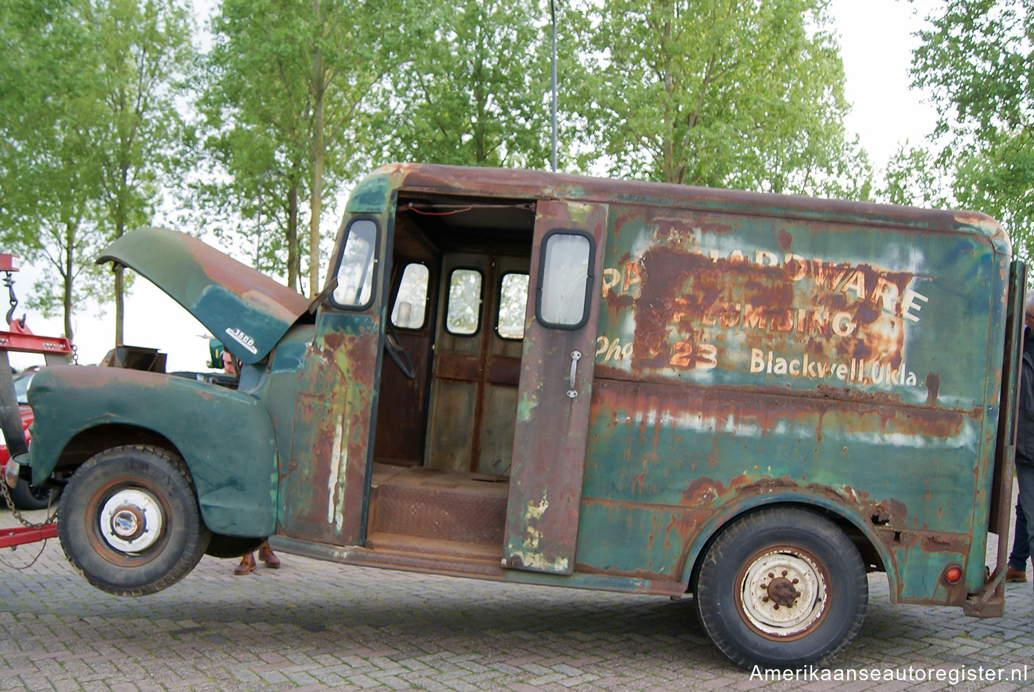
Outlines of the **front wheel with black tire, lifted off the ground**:
{"type": "Polygon", "coordinates": [[[182,579],[211,533],[186,463],[154,447],[115,447],[72,475],[58,506],[58,538],[91,584],[144,596],[182,579]]]}

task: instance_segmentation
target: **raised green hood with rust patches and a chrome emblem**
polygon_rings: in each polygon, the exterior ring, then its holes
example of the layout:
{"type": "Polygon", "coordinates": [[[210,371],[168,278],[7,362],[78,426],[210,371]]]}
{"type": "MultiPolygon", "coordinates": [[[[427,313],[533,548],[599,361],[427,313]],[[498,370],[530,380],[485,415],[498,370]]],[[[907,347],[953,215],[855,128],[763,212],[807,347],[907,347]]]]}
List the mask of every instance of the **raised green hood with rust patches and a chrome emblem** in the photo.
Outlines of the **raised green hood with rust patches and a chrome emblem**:
{"type": "Polygon", "coordinates": [[[97,264],[139,272],[185,307],[243,363],[262,360],[309,307],[302,295],[191,236],[168,229],[127,233],[97,264]]]}

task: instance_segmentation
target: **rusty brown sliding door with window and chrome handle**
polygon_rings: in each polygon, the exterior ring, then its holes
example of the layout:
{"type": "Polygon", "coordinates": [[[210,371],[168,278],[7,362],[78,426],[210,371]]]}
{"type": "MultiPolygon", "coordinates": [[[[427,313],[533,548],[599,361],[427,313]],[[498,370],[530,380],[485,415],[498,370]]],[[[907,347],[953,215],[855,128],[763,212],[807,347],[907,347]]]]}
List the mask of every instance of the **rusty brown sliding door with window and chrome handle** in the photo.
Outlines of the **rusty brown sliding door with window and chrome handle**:
{"type": "Polygon", "coordinates": [[[542,201],[535,220],[504,566],[572,574],[607,207],[542,201]]]}

